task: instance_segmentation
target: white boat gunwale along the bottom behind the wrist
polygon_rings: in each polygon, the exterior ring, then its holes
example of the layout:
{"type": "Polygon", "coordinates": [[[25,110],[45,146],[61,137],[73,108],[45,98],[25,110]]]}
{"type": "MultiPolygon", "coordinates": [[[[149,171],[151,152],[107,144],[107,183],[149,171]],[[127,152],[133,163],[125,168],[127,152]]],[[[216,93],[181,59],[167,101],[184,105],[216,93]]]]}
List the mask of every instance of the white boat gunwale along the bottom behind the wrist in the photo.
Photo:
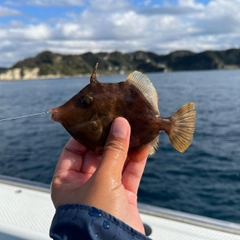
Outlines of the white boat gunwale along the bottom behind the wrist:
{"type": "MultiPolygon", "coordinates": [[[[240,224],[139,204],[154,240],[240,240],[240,224]]],[[[49,186],[0,175],[0,239],[50,239],[54,206],[49,186]]]]}

